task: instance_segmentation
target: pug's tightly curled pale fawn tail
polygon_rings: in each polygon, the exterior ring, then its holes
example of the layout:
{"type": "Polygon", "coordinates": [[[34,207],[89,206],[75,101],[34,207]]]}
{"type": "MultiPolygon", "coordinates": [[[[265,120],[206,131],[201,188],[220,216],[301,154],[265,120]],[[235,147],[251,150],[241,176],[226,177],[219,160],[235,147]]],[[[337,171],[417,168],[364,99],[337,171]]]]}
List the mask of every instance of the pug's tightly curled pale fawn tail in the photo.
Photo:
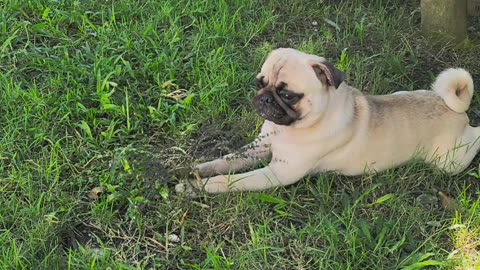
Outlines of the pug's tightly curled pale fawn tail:
{"type": "Polygon", "coordinates": [[[450,109],[463,113],[472,101],[472,76],[462,68],[449,68],[438,75],[432,90],[443,98],[450,109]]]}

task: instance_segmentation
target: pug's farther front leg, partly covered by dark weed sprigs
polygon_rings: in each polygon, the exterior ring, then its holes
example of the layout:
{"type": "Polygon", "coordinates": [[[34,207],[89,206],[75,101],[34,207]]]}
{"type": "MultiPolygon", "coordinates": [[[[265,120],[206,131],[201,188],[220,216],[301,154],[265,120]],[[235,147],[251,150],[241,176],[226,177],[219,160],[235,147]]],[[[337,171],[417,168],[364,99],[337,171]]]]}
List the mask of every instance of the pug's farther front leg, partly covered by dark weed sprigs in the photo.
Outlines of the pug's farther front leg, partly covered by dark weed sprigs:
{"type": "Polygon", "coordinates": [[[270,155],[270,145],[267,141],[262,138],[257,138],[252,143],[240,148],[236,153],[198,164],[195,166],[194,172],[198,173],[200,177],[234,173],[255,166],[261,161],[267,160],[270,155]]]}

